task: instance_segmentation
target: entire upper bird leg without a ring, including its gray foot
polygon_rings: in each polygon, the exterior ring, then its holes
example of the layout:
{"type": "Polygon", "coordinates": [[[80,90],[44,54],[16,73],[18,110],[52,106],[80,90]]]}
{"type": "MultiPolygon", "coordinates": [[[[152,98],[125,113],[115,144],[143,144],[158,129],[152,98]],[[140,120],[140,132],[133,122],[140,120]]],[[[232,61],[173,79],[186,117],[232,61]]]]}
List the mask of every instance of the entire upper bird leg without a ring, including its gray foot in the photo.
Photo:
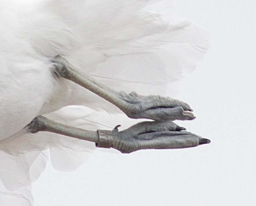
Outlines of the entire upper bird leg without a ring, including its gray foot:
{"type": "Polygon", "coordinates": [[[55,64],[54,72],[57,76],[70,80],[111,102],[130,118],[154,120],[191,120],[195,118],[190,112],[192,109],[189,105],[182,101],[158,95],[142,96],[135,92],[131,94],[117,92],[96,82],[59,55],[51,61],[55,64]]]}

